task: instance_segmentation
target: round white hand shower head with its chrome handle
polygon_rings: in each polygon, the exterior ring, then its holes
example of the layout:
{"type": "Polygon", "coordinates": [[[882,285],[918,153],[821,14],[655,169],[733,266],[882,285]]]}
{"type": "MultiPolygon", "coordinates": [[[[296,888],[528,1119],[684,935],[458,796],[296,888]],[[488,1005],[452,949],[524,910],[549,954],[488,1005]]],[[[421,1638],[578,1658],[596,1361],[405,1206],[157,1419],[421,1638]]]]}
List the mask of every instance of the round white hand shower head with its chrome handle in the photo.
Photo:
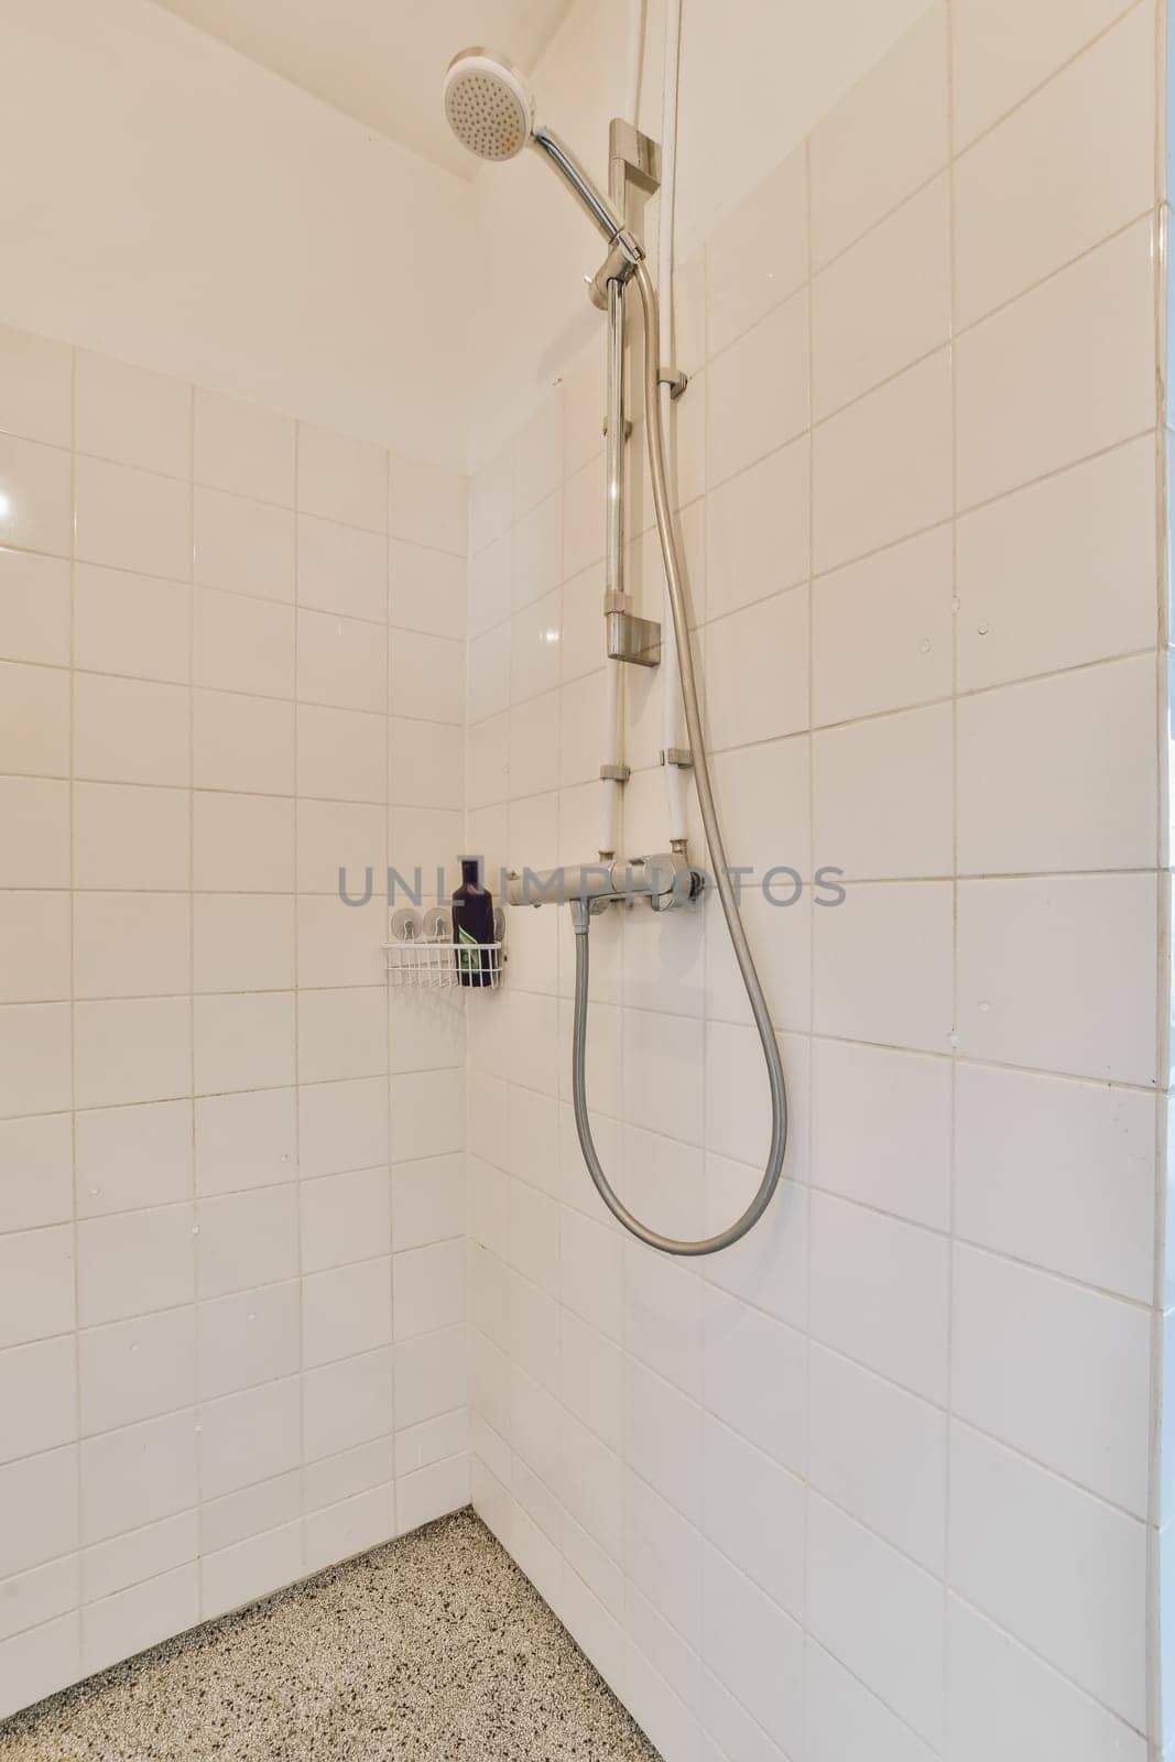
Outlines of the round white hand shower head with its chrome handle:
{"type": "Polygon", "coordinates": [[[534,120],[534,97],[527,78],[491,49],[462,49],[444,76],[444,113],[462,146],[477,159],[514,159],[534,146],[571,187],[610,245],[629,263],[639,263],[641,247],[606,196],[557,134],[534,120]]]}

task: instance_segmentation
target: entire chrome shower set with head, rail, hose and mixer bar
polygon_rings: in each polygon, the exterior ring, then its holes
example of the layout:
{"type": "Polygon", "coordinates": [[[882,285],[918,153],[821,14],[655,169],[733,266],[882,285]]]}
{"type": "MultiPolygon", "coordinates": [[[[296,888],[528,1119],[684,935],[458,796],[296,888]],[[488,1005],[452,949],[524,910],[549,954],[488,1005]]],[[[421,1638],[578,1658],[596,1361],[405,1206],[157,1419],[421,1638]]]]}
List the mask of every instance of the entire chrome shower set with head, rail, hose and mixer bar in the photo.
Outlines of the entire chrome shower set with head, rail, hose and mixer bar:
{"type": "MultiPolygon", "coordinates": [[[[676,48],[673,51],[676,69],[676,48]]],[[[669,88],[666,88],[669,90],[669,88]]],[[[673,88],[675,90],[675,88],[673,88]]],[[[576,944],[576,983],[574,983],[574,1020],[571,1036],[571,1085],[576,1131],[583,1161],[608,1210],[638,1240],[657,1247],[666,1255],[715,1255],[738,1242],[766,1210],[784,1166],[787,1149],[787,1087],[784,1068],[775,1041],[763,985],[756,971],[754,955],[747,941],[747,930],[738,909],[738,895],[731,881],[731,870],[722,846],[722,828],[719,825],[713,786],[710,782],[710,763],[706,758],[705,733],[701,726],[701,707],[698,701],[698,678],[694,673],[694,654],[689,634],[689,608],[685,603],[685,583],[682,559],[678,552],[676,529],[668,486],[666,435],[661,407],[662,386],[669,388],[669,396],[685,389],[685,379],[675,374],[668,361],[659,358],[666,347],[662,337],[657,289],[645,252],[629,231],[627,190],[629,185],[655,190],[661,183],[661,152],[655,141],[639,134],[632,122],[615,118],[610,134],[610,197],[602,196],[574,155],[557,136],[536,123],[534,99],[530,86],[507,60],[490,55],[486,49],[465,49],[449,63],[444,81],[444,109],[449,125],[470,153],[481,159],[514,159],[523,146],[534,146],[558,171],[576,199],[588,211],[595,226],[608,240],[608,257],[595,277],[588,278],[592,300],[608,312],[608,418],[606,432],[606,539],[604,539],[604,617],[608,626],[608,655],[617,663],[638,663],[639,666],[659,666],[662,661],[661,626],[638,618],[632,599],[624,583],[624,448],[627,439],[625,398],[624,398],[624,326],[625,326],[625,285],[636,289],[639,296],[641,319],[645,326],[645,430],[648,476],[654,497],[654,515],[661,539],[664,562],[666,596],[673,618],[673,654],[678,663],[680,701],[685,715],[685,733],[689,747],[680,749],[676,742],[666,740],[664,761],[675,766],[689,766],[698,791],[698,807],[706,833],[710,869],[715,892],[726,918],[726,929],[738,962],[750,1015],[759,1033],[763,1062],[766,1066],[768,1089],[772,1096],[772,1140],[766,1152],[766,1165],[756,1193],[743,1212],[724,1230],[699,1240],[678,1240],[662,1235],[641,1223],[620,1195],[615,1191],[601,1165],[592,1138],[587,1098],[587,1029],[588,1029],[588,962],[590,962],[590,925],[599,911],[611,906],[631,904],[634,897],[645,895],[661,913],[673,906],[689,906],[698,900],[705,888],[703,874],[692,867],[687,855],[687,828],[684,807],[680,814],[669,812],[669,855],[645,856],[634,862],[617,862],[618,849],[618,789],[629,777],[620,747],[620,685],[618,666],[608,671],[608,708],[604,763],[599,775],[606,795],[606,823],[601,837],[601,862],[580,869],[555,869],[544,876],[528,870],[511,874],[507,897],[513,906],[530,904],[567,904],[576,944]],[[675,830],[675,821],[678,828],[675,830]]],[[[636,111],[636,102],[632,102],[636,111]]],[[[664,192],[662,192],[664,194],[664,192]]],[[[664,220],[664,215],[662,215],[664,220]]],[[[662,233],[662,236],[668,236],[662,233]]],[[[668,270],[662,268],[668,275],[668,270]]],[[[673,685],[676,698],[676,684],[673,685]]]]}

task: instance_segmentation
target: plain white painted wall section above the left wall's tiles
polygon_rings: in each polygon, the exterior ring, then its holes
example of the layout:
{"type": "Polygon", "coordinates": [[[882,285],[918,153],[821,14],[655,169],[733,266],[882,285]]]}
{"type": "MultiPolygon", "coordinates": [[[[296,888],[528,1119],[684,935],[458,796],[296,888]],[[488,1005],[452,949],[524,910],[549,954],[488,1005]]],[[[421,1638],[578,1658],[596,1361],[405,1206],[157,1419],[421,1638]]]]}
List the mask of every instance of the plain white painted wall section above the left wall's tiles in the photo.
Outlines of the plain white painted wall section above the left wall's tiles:
{"type": "Polygon", "coordinates": [[[460,178],[151,0],[0,42],[0,319],[456,463],[460,178]]]}

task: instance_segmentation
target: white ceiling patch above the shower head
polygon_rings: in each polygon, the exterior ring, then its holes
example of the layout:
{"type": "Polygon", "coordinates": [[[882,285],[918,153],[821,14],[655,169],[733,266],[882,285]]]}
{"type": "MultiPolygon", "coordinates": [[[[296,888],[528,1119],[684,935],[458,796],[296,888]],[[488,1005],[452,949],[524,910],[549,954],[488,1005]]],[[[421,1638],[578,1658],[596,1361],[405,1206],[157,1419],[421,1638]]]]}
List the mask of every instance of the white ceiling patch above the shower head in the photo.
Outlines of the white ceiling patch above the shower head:
{"type": "Polygon", "coordinates": [[[159,0],[159,5],[462,178],[440,81],[481,42],[532,67],[571,0],[159,0]]]}

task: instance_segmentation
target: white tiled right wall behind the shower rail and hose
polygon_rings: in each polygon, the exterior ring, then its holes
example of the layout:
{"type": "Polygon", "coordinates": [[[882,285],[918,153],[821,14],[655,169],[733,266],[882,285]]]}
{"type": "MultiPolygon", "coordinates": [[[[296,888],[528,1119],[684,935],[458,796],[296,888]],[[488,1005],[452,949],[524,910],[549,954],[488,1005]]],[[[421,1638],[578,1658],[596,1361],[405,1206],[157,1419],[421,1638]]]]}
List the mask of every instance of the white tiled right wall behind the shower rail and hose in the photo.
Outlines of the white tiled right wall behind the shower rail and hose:
{"type": "MultiPolygon", "coordinates": [[[[1157,78],[1150,0],[937,4],[678,277],[731,860],[849,877],[747,911],[787,1184],[708,1262],[611,1223],[565,913],[511,914],[469,1098],[476,1503],[668,1762],[1157,1753],[1157,78]]],[[[493,862],[595,853],[599,352],[474,479],[493,862]]],[[[721,914],[592,950],[602,1159],[717,1228],[768,1126],[721,914]]]]}

